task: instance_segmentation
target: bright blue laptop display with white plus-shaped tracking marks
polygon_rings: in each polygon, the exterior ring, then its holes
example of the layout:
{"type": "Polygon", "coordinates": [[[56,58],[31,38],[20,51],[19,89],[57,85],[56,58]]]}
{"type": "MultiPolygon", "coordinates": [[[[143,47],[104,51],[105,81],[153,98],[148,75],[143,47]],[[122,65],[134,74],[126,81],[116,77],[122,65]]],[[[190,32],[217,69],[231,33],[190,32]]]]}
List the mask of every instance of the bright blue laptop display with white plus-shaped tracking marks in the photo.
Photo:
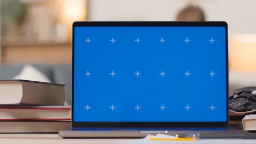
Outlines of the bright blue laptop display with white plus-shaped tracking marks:
{"type": "Polygon", "coordinates": [[[225,27],[75,27],[74,122],[226,122],[225,27]]]}

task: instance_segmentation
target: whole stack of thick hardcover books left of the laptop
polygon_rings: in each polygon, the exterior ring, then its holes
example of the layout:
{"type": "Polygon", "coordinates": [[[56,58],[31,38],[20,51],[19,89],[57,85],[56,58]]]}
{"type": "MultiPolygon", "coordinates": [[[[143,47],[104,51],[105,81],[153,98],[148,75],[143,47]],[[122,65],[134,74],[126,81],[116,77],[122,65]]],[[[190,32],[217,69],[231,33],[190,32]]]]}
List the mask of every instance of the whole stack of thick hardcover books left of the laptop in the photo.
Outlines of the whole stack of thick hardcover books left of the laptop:
{"type": "Polygon", "coordinates": [[[65,85],[0,81],[0,133],[57,133],[71,129],[65,85]]]}

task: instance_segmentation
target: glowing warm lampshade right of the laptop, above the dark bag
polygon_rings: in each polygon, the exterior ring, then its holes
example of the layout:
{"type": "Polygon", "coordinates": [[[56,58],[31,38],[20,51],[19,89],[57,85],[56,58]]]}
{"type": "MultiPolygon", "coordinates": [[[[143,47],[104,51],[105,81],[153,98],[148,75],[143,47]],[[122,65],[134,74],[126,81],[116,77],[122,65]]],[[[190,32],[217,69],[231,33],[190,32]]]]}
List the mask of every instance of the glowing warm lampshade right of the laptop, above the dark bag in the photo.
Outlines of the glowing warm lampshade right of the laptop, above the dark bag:
{"type": "Polygon", "coordinates": [[[230,70],[256,72],[256,34],[235,35],[229,51],[230,70]]]}

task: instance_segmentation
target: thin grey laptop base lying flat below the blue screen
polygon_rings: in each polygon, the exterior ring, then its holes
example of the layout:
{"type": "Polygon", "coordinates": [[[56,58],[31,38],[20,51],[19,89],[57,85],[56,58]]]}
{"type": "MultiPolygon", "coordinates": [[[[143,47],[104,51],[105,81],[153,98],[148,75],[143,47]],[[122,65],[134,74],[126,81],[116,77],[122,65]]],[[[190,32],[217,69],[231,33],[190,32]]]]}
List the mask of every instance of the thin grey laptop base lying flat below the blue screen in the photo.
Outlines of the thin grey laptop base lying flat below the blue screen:
{"type": "Polygon", "coordinates": [[[171,136],[192,136],[197,139],[256,139],[255,133],[243,130],[226,131],[59,131],[63,139],[140,139],[147,135],[166,134],[171,136]]]}

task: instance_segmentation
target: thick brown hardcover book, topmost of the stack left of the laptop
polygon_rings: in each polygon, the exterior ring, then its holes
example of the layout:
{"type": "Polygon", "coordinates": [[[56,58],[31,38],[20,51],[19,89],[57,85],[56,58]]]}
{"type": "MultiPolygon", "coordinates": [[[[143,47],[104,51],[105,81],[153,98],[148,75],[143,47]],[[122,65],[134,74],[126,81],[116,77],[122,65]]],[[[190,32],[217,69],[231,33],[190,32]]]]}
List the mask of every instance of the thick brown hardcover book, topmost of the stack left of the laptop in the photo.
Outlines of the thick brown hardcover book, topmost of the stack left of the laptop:
{"type": "Polygon", "coordinates": [[[65,85],[27,80],[0,81],[0,105],[64,104],[65,85]]]}

